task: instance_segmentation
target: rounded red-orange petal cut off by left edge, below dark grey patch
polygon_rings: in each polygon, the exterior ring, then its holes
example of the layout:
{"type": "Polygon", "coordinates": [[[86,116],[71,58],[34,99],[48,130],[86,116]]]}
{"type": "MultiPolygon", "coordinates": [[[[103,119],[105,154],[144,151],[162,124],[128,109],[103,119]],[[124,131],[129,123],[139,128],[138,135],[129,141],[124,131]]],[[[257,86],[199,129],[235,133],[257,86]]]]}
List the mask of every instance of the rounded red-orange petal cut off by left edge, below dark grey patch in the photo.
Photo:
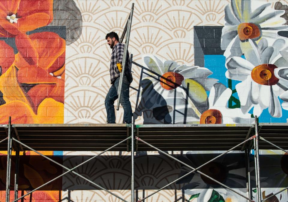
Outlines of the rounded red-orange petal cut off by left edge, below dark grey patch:
{"type": "Polygon", "coordinates": [[[6,70],[13,64],[15,60],[14,50],[5,41],[0,41],[0,64],[1,74],[4,74],[6,70]]]}

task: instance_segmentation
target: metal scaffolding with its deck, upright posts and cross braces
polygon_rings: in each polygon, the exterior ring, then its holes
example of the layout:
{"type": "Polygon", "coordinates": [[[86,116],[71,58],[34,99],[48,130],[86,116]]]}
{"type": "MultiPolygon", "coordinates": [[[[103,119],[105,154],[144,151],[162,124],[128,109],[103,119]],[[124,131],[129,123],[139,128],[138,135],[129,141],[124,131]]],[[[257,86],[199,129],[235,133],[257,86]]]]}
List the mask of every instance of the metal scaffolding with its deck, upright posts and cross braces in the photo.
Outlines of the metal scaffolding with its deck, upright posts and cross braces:
{"type": "MultiPolygon", "coordinates": [[[[6,202],[10,198],[10,176],[11,176],[11,151],[16,151],[16,170],[19,167],[19,151],[34,151],[46,159],[63,167],[64,173],[60,176],[46,182],[44,185],[58,179],[59,177],[72,172],[73,174],[87,180],[91,184],[97,186],[104,191],[114,195],[122,201],[129,202],[111,191],[101,187],[85,176],[76,173],[74,170],[90,161],[93,158],[107,151],[132,151],[131,152],[131,201],[135,202],[134,198],[134,152],[136,151],[158,151],[169,158],[184,164],[191,169],[189,175],[193,172],[200,173],[208,177],[212,181],[227,188],[247,201],[253,202],[252,189],[250,184],[250,150],[254,149],[257,202],[264,202],[274,195],[285,191],[284,188],[277,193],[261,199],[260,187],[260,167],[259,167],[259,149],[277,149],[283,152],[288,152],[288,124],[287,123],[258,123],[255,117],[255,124],[159,124],[159,125],[135,125],[132,124],[9,124],[0,125],[0,140],[7,144],[0,144],[2,151],[7,150],[7,175],[6,175],[6,202]],[[197,168],[193,168],[188,164],[169,155],[165,151],[225,151],[214,159],[209,160],[205,164],[197,168]],[[222,155],[229,153],[232,150],[245,151],[246,160],[246,180],[247,193],[235,191],[232,188],[218,182],[210,176],[202,173],[200,168],[214,161],[222,155]],[[64,165],[55,162],[48,156],[41,154],[38,151],[101,151],[99,154],[90,159],[76,165],[73,168],[67,168],[64,165]],[[67,170],[67,171],[66,171],[67,170]]],[[[1,143],[0,142],[0,143],[1,143]]],[[[15,174],[18,178],[18,171],[15,174]]],[[[186,176],[185,175],[185,176],[186,176]]],[[[138,200],[141,202],[153,194],[161,191],[167,186],[177,182],[182,177],[179,177],[168,185],[158,189],[152,194],[138,200]]],[[[35,188],[31,192],[17,198],[18,180],[15,180],[14,185],[14,200],[16,202],[26,195],[38,190],[44,185],[35,188]]]]}

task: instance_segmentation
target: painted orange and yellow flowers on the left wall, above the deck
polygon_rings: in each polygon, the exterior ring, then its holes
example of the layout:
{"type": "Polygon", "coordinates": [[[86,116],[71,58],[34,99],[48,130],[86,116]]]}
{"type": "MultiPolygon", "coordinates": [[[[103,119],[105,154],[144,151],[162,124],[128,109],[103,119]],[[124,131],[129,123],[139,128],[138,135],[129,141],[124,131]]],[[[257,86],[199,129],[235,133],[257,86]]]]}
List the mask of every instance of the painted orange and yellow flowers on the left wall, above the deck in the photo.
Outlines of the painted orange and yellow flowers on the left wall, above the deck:
{"type": "Polygon", "coordinates": [[[0,2],[0,124],[64,122],[65,39],[34,32],[53,20],[53,1],[0,2]],[[5,38],[13,38],[9,44],[5,38]]]}

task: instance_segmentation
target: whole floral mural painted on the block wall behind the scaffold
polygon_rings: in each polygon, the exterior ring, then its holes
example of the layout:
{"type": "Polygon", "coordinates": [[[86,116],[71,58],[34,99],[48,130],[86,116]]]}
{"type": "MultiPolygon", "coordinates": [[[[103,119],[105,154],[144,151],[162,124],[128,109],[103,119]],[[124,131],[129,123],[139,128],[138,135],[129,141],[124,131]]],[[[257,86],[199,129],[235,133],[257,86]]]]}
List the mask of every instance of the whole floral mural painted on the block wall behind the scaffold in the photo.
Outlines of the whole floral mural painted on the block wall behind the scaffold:
{"type": "MultiPolygon", "coordinates": [[[[105,35],[122,34],[132,3],[130,99],[137,124],[241,124],[254,123],[255,115],[260,122],[287,122],[287,1],[0,0],[0,124],[8,116],[13,124],[105,123],[111,53],[105,35]]],[[[122,121],[121,108],[116,122],[122,121]]],[[[44,153],[72,167],[98,152],[44,153]]],[[[173,155],[197,167],[217,153],[173,155]]],[[[129,155],[108,152],[77,172],[129,200],[129,155]]],[[[243,155],[225,155],[202,171],[246,194],[243,155]]],[[[6,166],[0,157],[2,201],[6,166]]],[[[21,160],[19,195],[62,173],[33,152],[21,160]]],[[[137,199],[189,172],[157,152],[137,152],[135,161],[137,199]]],[[[287,187],[286,162],[283,152],[262,151],[263,198],[287,187]]],[[[60,181],[25,201],[118,201],[72,174],[60,181]]],[[[286,190],[267,201],[287,200],[286,190]]],[[[147,201],[244,200],[192,174],[147,201]]]]}

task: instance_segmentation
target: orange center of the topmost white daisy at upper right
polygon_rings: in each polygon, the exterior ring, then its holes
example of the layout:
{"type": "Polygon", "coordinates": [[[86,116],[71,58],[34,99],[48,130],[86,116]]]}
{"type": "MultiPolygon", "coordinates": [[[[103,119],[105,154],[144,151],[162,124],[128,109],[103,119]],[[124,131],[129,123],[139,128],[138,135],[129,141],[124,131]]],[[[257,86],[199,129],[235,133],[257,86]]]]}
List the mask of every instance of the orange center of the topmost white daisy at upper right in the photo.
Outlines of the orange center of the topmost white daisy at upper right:
{"type": "Polygon", "coordinates": [[[238,35],[240,40],[257,38],[260,36],[259,27],[253,23],[241,23],[238,25],[238,35]]]}

